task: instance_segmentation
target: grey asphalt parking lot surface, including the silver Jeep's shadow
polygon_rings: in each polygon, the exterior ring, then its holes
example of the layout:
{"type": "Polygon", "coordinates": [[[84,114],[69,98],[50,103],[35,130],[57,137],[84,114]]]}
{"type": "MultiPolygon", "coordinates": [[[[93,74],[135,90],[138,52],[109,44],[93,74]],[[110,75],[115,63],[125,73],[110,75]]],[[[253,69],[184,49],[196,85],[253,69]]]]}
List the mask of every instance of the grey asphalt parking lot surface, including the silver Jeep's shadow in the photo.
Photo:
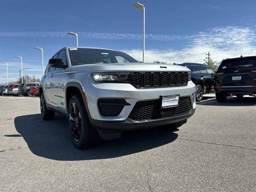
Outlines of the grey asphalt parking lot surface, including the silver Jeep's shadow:
{"type": "Polygon", "coordinates": [[[256,191],[255,114],[254,97],[207,97],[179,129],[78,150],[38,97],[0,96],[0,191],[256,191]]]}

